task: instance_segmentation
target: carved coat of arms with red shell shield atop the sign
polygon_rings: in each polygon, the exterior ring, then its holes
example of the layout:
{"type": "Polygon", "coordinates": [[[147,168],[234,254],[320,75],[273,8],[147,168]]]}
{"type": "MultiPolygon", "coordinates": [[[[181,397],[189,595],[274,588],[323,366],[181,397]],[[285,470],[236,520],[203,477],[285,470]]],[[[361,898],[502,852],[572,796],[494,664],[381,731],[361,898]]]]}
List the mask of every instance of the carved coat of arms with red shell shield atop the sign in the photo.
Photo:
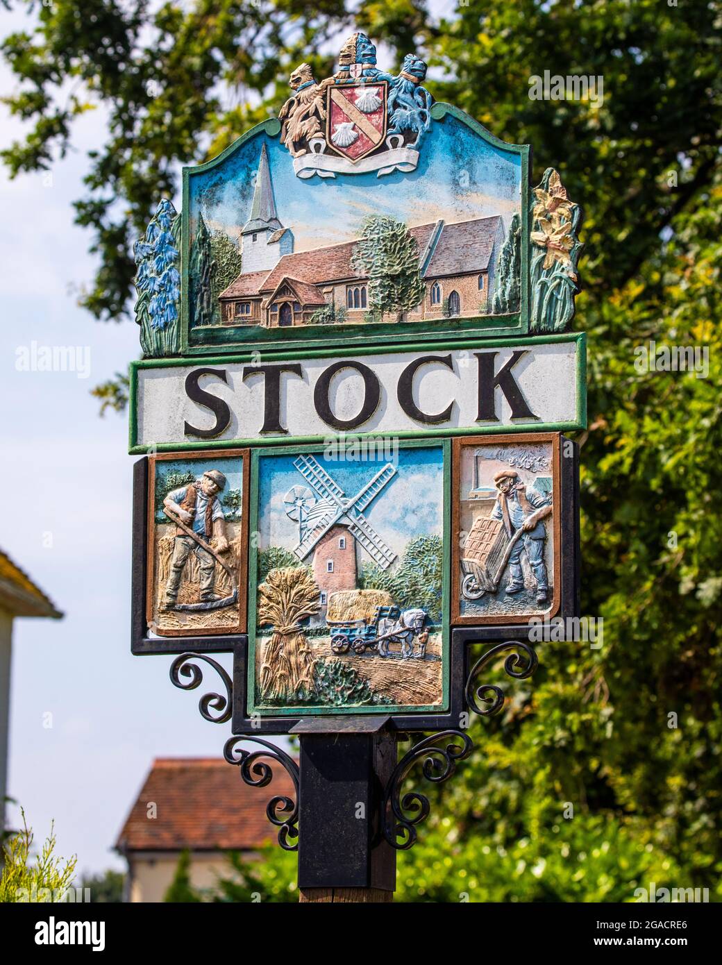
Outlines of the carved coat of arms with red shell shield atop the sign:
{"type": "Polygon", "coordinates": [[[421,86],[426,72],[415,54],[406,54],[399,74],[379,70],[375,45],[361,33],[342,47],[332,77],[318,82],[309,65],[301,64],[292,72],[293,95],[279,115],[296,175],[413,171],[431,124],[431,96],[421,86]]]}

